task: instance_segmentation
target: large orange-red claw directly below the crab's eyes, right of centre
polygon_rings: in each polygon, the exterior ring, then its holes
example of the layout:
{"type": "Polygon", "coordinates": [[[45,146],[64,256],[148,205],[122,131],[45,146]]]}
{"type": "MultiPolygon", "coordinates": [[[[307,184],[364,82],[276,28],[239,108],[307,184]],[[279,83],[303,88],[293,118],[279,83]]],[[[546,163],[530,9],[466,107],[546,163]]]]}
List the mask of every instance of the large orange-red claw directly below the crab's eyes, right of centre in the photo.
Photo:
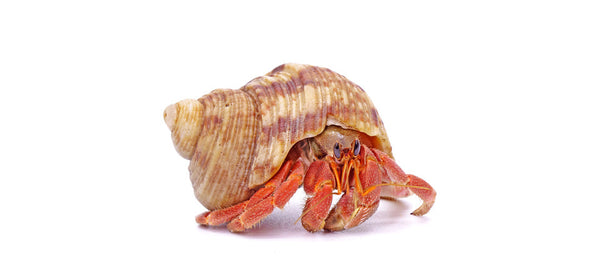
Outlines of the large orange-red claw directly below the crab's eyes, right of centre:
{"type": "MultiPolygon", "coordinates": [[[[365,150],[368,152],[368,150],[365,150]]],[[[372,157],[368,152],[367,157],[372,157]]],[[[377,162],[367,158],[366,166],[357,172],[356,181],[329,213],[325,230],[339,231],[355,227],[371,217],[379,206],[381,172],[377,162]]]]}

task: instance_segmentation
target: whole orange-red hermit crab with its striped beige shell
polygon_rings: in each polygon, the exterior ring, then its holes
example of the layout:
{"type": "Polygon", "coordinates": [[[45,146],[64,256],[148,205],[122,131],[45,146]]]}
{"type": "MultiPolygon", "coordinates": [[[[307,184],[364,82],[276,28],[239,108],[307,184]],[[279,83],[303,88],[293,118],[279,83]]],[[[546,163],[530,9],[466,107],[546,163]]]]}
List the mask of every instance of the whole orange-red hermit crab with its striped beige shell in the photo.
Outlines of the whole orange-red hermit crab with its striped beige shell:
{"type": "Polygon", "coordinates": [[[196,217],[201,225],[245,231],[301,186],[309,198],[299,220],[311,232],[357,226],[381,197],[416,194],[423,203],[413,215],[435,201],[427,182],[394,161],[364,90],[326,68],[284,64],[240,89],[170,105],[163,117],[210,210],[196,217]],[[333,195],[341,197],[331,208],[333,195]]]}

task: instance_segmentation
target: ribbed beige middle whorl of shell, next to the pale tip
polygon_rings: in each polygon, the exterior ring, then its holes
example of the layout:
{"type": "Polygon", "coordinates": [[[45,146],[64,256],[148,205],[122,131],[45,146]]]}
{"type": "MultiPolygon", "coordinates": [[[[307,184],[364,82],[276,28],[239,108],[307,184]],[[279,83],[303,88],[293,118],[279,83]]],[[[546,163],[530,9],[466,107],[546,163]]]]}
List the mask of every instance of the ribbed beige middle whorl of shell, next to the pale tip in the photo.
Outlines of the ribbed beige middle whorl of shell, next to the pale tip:
{"type": "Polygon", "coordinates": [[[260,120],[252,98],[241,90],[215,90],[198,101],[205,121],[190,161],[190,179],[205,207],[222,208],[252,194],[248,175],[260,120]]]}

